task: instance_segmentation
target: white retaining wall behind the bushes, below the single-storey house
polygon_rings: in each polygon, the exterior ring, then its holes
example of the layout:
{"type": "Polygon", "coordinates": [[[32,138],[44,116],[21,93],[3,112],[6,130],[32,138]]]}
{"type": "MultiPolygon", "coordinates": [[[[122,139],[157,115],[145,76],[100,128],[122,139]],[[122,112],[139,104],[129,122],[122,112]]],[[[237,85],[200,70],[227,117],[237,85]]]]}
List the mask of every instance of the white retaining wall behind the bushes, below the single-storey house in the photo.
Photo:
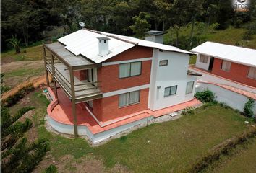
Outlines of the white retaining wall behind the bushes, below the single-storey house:
{"type": "MultiPolygon", "coordinates": [[[[196,92],[201,92],[205,89],[209,89],[210,91],[214,92],[218,102],[225,102],[227,105],[234,109],[237,109],[241,112],[244,111],[244,104],[248,100],[246,96],[237,92],[232,92],[229,89],[224,89],[221,86],[215,84],[197,83],[196,92]]],[[[254,113],[256,114],[256,105],[254,107],[254,113]]]]}

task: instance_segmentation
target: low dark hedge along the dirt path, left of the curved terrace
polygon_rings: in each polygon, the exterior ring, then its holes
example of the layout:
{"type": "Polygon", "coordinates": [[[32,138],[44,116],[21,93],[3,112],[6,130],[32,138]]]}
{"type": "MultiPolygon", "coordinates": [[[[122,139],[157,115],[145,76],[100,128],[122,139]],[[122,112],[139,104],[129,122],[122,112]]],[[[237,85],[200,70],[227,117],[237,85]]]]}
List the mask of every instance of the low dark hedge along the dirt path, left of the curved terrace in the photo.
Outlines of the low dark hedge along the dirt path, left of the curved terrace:
{"type": "Polygon", "coordinates": [[[7,99],[5,99],[3,101],[4,105],[7,107],[10,107],[10,106],[16,104],[20,99],[25,97],[26,94],[33,92],[34,90],[35,90],[35,88],[34,88],[33,84],[24,86],[14,95],[7,97],[7,99]]]}

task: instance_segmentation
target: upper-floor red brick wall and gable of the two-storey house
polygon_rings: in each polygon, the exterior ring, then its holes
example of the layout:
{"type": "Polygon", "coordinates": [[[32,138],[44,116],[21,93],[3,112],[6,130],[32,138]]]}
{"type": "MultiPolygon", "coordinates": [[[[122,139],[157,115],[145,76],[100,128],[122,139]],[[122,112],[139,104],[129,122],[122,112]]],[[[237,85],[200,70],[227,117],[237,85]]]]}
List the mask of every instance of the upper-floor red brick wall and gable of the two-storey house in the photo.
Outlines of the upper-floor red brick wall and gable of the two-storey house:
{"type": "MultiPolygon", "coordinates": [[[[137,46],[119,55],[108,59],[109,61],[124,61],[136,58],[152,57],[152,48],[137,46]]],[[[151,60],[142,61],[142,72],[140,76],[132,76],[119,79],[119,64],[102,66],[98,68],[98,81],[101,81],[101,91],[113,92],[119,89],[126,89],[133,86],[140,86],[150,83],[151,60]]]]}

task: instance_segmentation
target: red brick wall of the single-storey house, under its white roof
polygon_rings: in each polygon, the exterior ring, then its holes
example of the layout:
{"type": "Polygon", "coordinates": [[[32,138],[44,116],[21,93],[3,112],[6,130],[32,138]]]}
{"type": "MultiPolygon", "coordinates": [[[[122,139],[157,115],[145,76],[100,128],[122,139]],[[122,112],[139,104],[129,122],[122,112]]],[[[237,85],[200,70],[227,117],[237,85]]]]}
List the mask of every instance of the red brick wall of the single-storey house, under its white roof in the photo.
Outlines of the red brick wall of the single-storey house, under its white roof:
{"type": "Polygon", "coordinates": [[[242,84],[247,84],[249,86],[256,87],[256,80],[247,77],[249,66],[244,66],[238,63],[232,63],[230,71],[221,70],[222,60],[214,58],[212,73],[218,76],[222,76],[226,79],[231,79],[233,81],[238,81],[242,84]]]}

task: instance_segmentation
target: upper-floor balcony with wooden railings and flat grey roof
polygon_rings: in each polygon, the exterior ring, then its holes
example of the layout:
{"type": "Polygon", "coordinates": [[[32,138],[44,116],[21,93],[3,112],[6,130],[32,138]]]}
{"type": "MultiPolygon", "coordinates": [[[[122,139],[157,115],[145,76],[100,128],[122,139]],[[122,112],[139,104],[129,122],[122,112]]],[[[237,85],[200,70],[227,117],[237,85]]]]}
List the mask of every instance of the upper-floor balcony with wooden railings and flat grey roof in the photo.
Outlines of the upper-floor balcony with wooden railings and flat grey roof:
{"type": "Polygon", "coordinates": [[[69,99],[74,99],[77,103],[102,98],[100,81],[80,80],[74,76],[75,71],[95,69],[95,74],[92,75],[96,79],[98,64],[81,56],[74,56],[60,43],[45,45],[44,62],[46,74],[51,74],[69,99]]]}

